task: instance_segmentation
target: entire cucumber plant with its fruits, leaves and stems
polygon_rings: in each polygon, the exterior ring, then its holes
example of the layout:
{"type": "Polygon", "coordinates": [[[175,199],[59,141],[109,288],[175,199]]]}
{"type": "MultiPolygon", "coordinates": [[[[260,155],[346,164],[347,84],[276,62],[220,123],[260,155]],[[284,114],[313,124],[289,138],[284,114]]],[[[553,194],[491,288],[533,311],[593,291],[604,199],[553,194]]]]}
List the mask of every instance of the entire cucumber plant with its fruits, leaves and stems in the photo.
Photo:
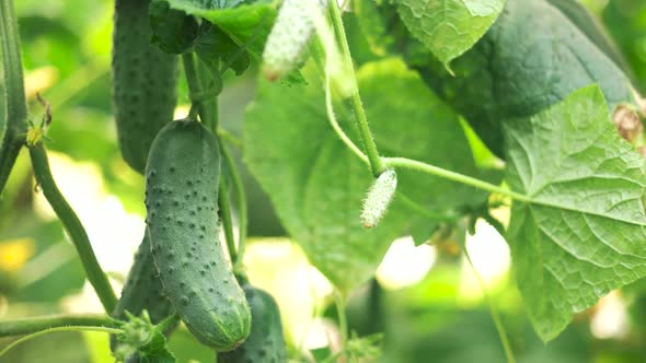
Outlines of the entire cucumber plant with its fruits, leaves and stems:
{"type": "MultiPolygon", "coordinates": [[[[402,236],[437,242],[439,254],[455,239],[474,267],[464,238],[478,219],[506,238],[543,341],[610,291],[646,278],[646,164],[636,152],[646,148],[644,86],[593,15],[575,0],[349,5],[115,0],[106,98],[120,156],[145,176],[146,206],[145,236],[117,300],[92,234],[51,173],[47,149],[58,145],[47,132],[66,121],[39,96],[43,121],[27,113],[13,1],[0,0],[0,194],[26,147],[35,190],[105,311],[0,319],[0,337],[28,335],[8,349],[47,332],[96,330],[113,335],[118,361],[173,362],[166,337],[187,329],[223,363],[377,360],[381,335],[355,333],[348,296],[402,236]],[[180,59],[185,96],[176,92],[180,59]],[[220,94],[244,89],[234,77],[255,73],[263,77],[238,140],[220,120],[230,115],[220,94]],[[188,115],[173,120],[178,103],[188,115]],[[279,304],[246,277],[257,267],[244,259],[246,190],[231,144],[244,147],[287,234],[335,288],[326,297],[339,343],[328,352],[286,339],[279,304]]],[[[507,338],[481,289],[499,355],[515,362],[526,347],[507,338]]],[[[368,306],[388,309],[371,298],[368,306]]],[[[397,353],[406,355],[384,359],[397,353]]]]}

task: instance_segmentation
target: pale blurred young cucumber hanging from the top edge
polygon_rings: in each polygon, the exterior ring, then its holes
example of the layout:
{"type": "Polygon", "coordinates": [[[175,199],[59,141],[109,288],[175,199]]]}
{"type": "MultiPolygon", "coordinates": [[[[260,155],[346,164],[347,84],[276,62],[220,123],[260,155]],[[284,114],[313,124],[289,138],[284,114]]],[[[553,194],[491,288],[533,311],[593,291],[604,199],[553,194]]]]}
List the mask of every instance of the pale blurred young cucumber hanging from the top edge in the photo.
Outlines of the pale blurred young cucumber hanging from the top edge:
{"type": "Polygon", "coordinates": [[[275,81],[292,71],[328,0],[284,0],[263,52],[263,73],[275,81]]]}

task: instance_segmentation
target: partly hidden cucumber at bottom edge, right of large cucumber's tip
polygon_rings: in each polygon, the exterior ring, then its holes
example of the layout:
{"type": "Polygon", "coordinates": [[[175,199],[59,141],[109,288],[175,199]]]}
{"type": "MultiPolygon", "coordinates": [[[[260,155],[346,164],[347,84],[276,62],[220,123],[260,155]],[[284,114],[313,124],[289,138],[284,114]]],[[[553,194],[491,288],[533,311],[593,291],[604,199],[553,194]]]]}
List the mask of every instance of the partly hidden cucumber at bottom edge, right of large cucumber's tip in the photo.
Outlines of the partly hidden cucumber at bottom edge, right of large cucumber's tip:
{"type": "Polygon", "coordinates": [[[285,363],[287,350],[280,312],[274,297],[252,285],[244,293],[253,323],[246,341],[235,350],[218,354],[218,363],[285,363]]]}

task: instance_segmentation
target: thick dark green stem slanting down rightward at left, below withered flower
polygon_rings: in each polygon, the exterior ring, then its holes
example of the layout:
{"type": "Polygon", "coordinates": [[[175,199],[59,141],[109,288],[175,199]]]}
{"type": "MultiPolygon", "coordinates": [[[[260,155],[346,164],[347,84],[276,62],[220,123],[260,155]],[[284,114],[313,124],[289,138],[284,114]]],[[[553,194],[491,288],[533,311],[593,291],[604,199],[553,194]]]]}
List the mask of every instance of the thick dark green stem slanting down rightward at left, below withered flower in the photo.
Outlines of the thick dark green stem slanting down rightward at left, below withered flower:
{"type": "Polygon", "coordinates": [[[32,157],[32,166],[34,168],[36,182],[43,189],[45,198],[47,198],[47,201],[68,232],[70,239],[77,247],[88,280],[96,291],[105,312],[108,314],[112,313],[116,305],[117,297],[109,285],[107,277],[103,273],[103,270],[96,260],[96,255],[94,255],[90,238],[88,237],[88,233],[85,233],[81,221],[56,186],[56,182],[49,169],[49,161],[47,160],[47,153],[45,152],[43,143],[39,142],[30,148],[30,155],[32,157]]]}

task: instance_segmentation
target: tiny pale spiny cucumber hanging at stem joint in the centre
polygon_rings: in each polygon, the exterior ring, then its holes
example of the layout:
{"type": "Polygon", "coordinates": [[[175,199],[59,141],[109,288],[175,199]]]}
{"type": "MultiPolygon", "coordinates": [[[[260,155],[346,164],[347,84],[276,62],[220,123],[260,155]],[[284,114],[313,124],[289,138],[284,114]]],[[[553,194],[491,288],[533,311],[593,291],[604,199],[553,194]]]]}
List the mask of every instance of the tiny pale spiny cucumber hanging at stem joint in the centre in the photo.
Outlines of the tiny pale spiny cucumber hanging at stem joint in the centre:
{"type": "Polygon", "coordinates": [[[361,211],[361,222],[367,229],[376,226],[388,211],[395,190],[397,189],[397,173],[387,169],[372,183],[361,211]]]}

